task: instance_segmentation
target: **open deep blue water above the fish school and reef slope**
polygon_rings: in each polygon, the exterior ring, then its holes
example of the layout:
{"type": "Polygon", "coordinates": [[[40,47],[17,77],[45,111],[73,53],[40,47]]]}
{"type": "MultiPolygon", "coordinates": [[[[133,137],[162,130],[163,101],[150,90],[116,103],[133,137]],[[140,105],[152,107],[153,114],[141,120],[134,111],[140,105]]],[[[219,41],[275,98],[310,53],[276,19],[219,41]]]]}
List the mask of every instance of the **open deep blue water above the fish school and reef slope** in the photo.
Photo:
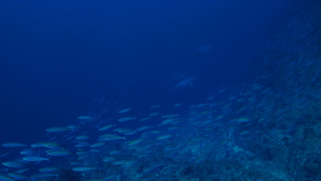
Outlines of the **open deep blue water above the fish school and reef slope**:
{"type": "Polygon", "coordinates": [[[267,0],[1,1],[0,141],[43,141],[97,98],[144,112],[237,89],[285,11],[267,0]],[[213,49],[195,52],[203,45],[213,49]],[[177,71],[197,77],[192,88],[172,91],[177,71]]]}

